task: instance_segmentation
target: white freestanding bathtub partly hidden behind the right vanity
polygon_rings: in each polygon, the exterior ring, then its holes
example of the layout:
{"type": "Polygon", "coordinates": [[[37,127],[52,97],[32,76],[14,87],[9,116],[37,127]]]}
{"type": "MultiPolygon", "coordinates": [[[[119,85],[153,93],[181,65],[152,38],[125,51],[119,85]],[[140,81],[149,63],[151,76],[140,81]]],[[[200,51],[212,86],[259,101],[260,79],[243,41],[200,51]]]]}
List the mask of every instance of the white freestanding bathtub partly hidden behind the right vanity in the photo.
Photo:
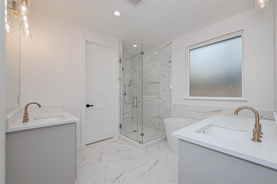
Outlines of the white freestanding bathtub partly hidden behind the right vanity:
{"type": "Polygon", "coordinates": [[[164,119],[164,128],[169,150],[178,155],[178,138],[172,136],[172,132],[180,130],[181,128],[192,125],[200,120],[189,118],[171,117],[164,119]]]}

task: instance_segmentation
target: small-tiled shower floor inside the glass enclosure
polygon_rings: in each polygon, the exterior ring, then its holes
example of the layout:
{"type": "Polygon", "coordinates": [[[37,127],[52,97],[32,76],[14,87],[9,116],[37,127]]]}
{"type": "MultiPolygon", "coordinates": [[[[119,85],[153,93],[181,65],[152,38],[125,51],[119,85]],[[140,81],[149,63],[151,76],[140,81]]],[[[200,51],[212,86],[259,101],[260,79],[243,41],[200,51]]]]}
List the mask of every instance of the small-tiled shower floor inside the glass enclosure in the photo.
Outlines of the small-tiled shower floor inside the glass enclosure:
{"type": "Polygon", "coordinates": [[[165,135],[165,132],[160,132],[152,128],[148,128],[145,126],[142,126],[142,128],[143,130],[141,131],[141,125],[137,125],[134,123],[126,123],[126,125],[125,124],[122,125],[121,132],[124,136],[127,136],[133,140],[136,140],[137,142],[140,140],[142,144],[165,135]],[[137,130],[137,132],[134,132],[134,130],[135,131],[137,130]],[[140,136],[141,132],[144,133],[143,141],[141,140],[142,137],[140,136]]]}

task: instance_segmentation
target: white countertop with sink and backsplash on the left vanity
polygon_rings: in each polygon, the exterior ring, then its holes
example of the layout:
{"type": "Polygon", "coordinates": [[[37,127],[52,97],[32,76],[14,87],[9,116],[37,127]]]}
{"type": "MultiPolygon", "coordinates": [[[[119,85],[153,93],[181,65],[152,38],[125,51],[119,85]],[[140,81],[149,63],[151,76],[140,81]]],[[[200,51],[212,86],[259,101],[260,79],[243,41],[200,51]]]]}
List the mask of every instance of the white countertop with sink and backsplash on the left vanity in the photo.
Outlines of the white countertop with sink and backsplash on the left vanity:
{"type": "Polygon", "coordinates": [[[77,117],[65,111],[63,109],[63,105],[49,105],[42,106],[42,108],[30,106],[29,108],[29,122],[22,123],[24,107],[21,107],[6,118],[6,132],[61,125],[79,121],[77,117]]]}

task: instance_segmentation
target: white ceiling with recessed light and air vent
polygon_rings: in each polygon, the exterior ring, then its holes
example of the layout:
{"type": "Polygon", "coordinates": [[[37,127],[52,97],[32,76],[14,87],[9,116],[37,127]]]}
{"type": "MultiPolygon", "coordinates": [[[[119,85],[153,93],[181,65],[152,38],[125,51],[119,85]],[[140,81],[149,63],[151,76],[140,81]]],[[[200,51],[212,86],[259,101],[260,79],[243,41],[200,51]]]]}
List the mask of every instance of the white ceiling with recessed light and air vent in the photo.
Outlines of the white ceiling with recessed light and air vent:
{"type": "Polygon", "coordinates": [[[122,39],[123,50],[162,44],[254,7],[253,0],[144,0],[137,8],[124,0],[32,2],[32,9],[122,39]]]}

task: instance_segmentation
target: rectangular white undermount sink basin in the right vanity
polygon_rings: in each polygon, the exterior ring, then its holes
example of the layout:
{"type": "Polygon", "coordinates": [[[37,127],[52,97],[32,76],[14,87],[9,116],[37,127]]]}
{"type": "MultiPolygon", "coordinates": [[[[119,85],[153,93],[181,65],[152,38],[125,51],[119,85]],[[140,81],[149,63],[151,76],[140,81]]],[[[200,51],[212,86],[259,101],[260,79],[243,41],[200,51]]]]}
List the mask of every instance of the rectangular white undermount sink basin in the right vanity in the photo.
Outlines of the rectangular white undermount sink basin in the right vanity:
{"type": "Polygon", "coordinates": [[[213,125],[212,123],[210,123],[208,127],[205,126],[204,129],[200,128],[196,132],[217,138],[242,141],[248,131],[242,127],[224,127],[220,125],[213,125]]]}

